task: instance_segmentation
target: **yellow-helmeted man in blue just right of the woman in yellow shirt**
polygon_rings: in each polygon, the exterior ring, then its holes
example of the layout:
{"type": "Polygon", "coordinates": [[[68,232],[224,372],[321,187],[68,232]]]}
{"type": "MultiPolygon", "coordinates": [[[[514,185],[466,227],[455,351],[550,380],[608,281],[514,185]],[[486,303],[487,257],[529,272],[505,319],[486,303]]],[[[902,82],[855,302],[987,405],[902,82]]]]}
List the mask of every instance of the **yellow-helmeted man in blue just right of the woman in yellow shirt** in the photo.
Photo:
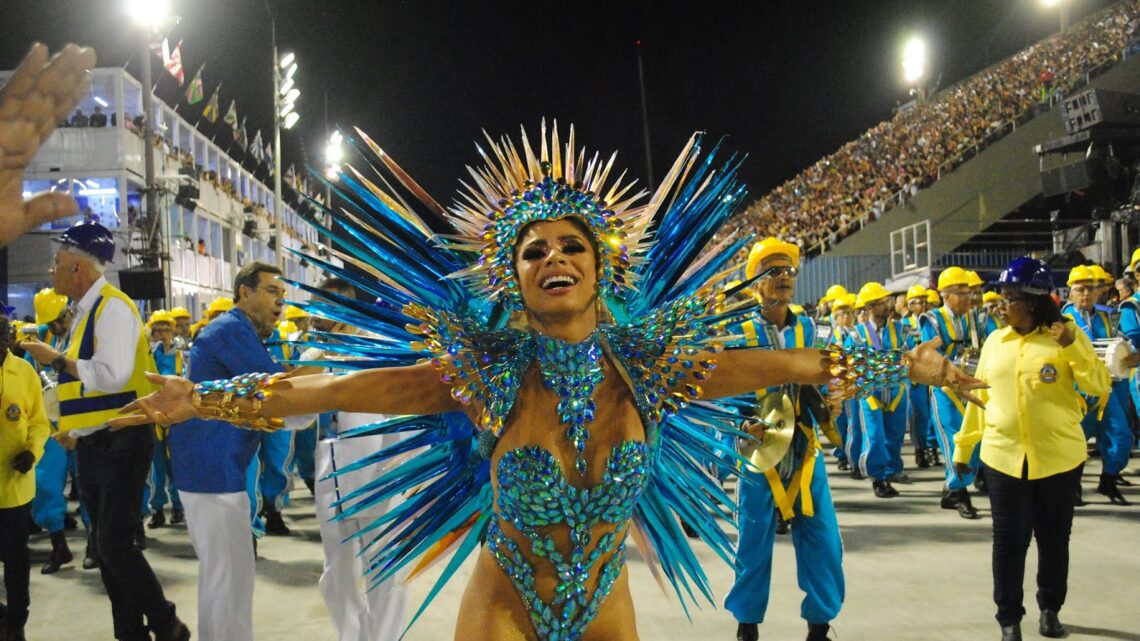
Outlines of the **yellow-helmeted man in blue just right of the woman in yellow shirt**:
{"type": "MultiPolygon", "coordinates": [[[[1089,266],[1078,265],[1069,270],[1068,286],[1073,302],[1065,306],[1062,314],[1075,320],[1076,326],[1084,331],[1089,340],[1115,336],[1116,332],[1107,308],[1097,305],[1097,299],[1104,289],[1104,285],[1098,283],[1097,273],[1089,266]]],[[[1140,362],[1140,355],[1137,352],[1130,358],[1133,367],[1140,362]]],[[[1097,449],[1100,451],[1104,464],[1097,492],[1117,505],[1129,504],[1116,487],[1119,480],[1123,480],[1121,472],[1129,464],[1129,453],[1132,451],[1132,430],[1124,409],[1127,395],[1127,381],[1114,380],[1109,393],[1099,399],[1086,398],[1089,411],[1081,421],[1085,437],[1097,437],[1097,449]]]]}

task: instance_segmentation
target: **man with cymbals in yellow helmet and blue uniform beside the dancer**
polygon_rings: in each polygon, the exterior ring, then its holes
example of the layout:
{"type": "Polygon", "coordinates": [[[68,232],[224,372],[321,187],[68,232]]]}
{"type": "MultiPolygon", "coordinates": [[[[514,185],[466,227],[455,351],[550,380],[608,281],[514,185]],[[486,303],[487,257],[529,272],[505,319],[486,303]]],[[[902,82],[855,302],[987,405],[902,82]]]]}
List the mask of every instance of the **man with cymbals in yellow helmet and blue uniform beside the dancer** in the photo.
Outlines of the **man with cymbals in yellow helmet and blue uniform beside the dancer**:
{"type": "MultiPolygon", "coordinates": [[[[749,278],[762,275],[754,289],[764,303],[764,311],[741,326],[749,346],[769,349],[812,346],[814,323],[806,315],[789,309],[796,293],[798,269],[799,248],[796,245],[768,237],[752,246],[746,275],[749,278]]],[[[776,510],[791,522],[799,585],[806,593],[800,615],[807,620],[808,641],[826,640],[831,620],[839,615],[844,603],[839,524],[831,490],[828,489],[826,465],[815,420],[800,405],[798,387],[757,391],[757,400],[771,395],[787,395],[793,404],[797,424],[785,455],[787,464],[781,463],[763,472],[746,470],[747,478],[740,482],[736,579],[724,602],[738,622],[738,641],[756,641],[759,638],[758,625],[764,623],[767,611],[776,510]]]]}

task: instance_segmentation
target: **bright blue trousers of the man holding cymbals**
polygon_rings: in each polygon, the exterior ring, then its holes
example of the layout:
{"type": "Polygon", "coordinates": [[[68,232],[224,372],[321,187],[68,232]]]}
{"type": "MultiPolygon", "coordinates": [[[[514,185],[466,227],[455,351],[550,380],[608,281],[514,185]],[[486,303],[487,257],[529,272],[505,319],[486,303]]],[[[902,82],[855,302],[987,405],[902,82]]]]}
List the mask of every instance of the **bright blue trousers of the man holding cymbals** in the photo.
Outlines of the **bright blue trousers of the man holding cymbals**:
{"type": "MultiPolygon", "coordinates": [[[[796,575],[804,602],[799,614],[807,623],[828,623],[839,616],[844,605],[844,544],[839,538],[836,506],[828,488],[823,454],[816,453],[812,474],[812,501],[815,516],[799,514],[791,525],[796,549],[796,575]]],[[[740,489],[740,541],[736,552],[736,582],[724,607],[741,623],[764,623],[772,587],[772,551],[776,537],[775,501],[762,474],[747,474],[740,489]]]]}

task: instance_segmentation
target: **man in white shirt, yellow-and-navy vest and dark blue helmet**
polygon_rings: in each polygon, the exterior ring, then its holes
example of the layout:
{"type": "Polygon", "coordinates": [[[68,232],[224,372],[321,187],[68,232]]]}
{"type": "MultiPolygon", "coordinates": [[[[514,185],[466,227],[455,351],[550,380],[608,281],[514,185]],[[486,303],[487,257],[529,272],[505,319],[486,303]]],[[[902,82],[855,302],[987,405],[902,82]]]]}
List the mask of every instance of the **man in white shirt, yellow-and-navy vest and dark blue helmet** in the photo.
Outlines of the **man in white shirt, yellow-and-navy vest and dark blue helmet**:
{"type": "Polygon", "coordinates": [[[103,276],[115,255],[107,228],[79,222],[58,242],[51,284],[76,301],[67,347],[63,352],[40,341],[21,347],[59,373],[59,438],[68,445],[78,439],[80,492],[91,517],[115,638],[142,641],[154,634],[155,641],[186,641],[189,628],[132,543],[141,521],[154,429],[105,429],[120,408],[152,389],[145,373],[155,366],[142,318],[131,299],[103,276]]]}

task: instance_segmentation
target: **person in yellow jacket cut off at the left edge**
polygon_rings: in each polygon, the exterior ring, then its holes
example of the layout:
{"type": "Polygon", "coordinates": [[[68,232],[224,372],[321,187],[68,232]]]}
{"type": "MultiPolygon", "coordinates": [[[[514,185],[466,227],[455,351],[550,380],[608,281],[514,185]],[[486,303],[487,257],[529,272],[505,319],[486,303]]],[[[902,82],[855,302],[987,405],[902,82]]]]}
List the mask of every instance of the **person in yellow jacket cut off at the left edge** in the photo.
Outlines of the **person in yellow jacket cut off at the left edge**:
{"type": "Polygon", "coordinates": [[[8,317],[0,311],[0,561],[8,592],[0,639],[24,638],[31,605],[27,534],[35,496],[33,468],[51,431],[40,376],[31,364],[8,352],[13,339],[8,317]]]}

